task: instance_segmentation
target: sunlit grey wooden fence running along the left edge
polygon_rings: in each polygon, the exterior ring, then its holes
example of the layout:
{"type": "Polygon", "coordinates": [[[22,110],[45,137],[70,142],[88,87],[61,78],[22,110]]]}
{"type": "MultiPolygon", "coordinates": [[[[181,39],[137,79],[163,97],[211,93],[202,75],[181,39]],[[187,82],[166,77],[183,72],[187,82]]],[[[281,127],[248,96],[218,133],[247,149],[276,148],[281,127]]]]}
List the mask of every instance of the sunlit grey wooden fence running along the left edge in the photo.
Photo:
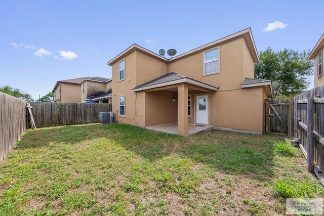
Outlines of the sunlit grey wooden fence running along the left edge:
{"type": "Polygon", "coordinates": [[[26,101],[0,92],[0,160],[20,139],[26,125],[26,101]]]}

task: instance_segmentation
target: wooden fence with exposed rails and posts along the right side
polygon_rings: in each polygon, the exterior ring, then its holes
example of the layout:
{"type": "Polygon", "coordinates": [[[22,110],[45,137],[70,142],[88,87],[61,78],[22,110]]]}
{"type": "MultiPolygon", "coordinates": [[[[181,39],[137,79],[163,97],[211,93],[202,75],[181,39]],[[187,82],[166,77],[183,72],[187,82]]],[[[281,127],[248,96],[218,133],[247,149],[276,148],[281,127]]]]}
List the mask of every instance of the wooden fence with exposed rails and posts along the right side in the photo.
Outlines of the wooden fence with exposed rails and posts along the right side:
{"type": "Polygon", "coordinates": [[[324,85],[294,98],[293,139],[305,155],[308,171],[324,185],[324,85]]]}

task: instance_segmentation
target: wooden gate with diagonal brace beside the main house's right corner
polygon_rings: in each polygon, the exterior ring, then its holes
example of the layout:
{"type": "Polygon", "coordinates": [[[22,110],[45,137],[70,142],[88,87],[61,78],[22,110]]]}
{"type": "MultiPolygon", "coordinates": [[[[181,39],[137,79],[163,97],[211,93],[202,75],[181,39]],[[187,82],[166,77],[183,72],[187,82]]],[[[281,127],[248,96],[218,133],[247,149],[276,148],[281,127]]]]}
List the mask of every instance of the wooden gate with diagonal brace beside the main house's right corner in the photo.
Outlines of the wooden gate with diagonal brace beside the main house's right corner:
{"type": "Polygon", "coordinates": [[[269,131],[288,133],[289,99],[269,100],[269,131]]]}

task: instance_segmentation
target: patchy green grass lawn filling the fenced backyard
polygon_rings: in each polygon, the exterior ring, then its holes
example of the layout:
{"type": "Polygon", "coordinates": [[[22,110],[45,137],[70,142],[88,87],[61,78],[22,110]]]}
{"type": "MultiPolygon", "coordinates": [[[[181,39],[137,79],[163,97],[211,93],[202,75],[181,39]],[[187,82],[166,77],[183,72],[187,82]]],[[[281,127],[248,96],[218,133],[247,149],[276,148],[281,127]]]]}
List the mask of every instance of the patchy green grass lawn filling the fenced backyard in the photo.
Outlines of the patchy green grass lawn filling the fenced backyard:
{"type": "Polygon", "coordinates": [[[285,138],[125,124],[30,130],[0,163],[0,215],[285,214],[286,198],[324,195],[285,138]]]}

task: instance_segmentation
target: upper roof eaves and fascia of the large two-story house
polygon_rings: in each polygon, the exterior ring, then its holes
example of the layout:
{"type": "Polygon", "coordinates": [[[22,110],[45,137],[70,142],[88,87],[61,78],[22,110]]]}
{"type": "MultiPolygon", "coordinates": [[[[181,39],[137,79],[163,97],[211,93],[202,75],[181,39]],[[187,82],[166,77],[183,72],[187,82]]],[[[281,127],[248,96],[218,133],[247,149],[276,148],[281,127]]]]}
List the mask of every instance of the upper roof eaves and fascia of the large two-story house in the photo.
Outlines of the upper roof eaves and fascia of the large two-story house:
{"type": "Polygon", "coordinates": [[[247,42],[247,45],[248,45],[248,49],[251,53],[251,56],[253,58],[253,61],[254,63],[257,63],[259,62],[259,55],[258,55],[258,52],[257,52],[257,49],[256,49],[256,46],[255,46],[255,43],[254,43],[254,39],[253,39],[253,35],[252,35],[252,32],[251,32],[251,28],[247,28],[247,29],[244,29],[244,30],[241,30],[241,31],[238,31],[234,34],[231,34],[231,35],[228,35],[226,37],[223,37],[221,39],[218,39],[218,40],[215,40],[213,42],[210,42],[209,44],[207,45],[204,45],[204,46],[201,46],[201,47],[198,47],[196,49],[193,49],[191,51],[188,51],[186,53],[183,53],[179,56],[176,56],[176,57],[173,57],[171,59],[166,59],[162,56],[159,56],[141,46],[138,46],[137,44],[133,44],[132,46],[130,46],[129,48],[127,48],[125,51],[121,52],[120,54],[118,54],[116,57],[114,57],[113,59],[111,59],[109,62],[107,62],[107,65],[112,65],[114,62],[122,59],[125,57],[126,54],[128,54],[129,52],[133,52],[135,50],[139,50],[139,51],[142,51],[146,54],[149,54],[150,56],[152,57],[155,57],[155,58],[158,58],[160,60],[164,60],[164,61],[167,61],[167,62],[171,62],[171,61],[174,61],[176,59],[179,59],[179,58],[183,58],[187,55],[190,55],[190,54],[193,54],[195,52],[198,52],[198,51],[202,51],[202,50],[207,50],[207,49],[210,49],[211,47],[215,47],[219,44],[221,44],[222,42],[225,42],[227,40],[230,40],[230,39],[234,39],[236,37],[240,37],[240,36],[243,36],[247,42]]]}

